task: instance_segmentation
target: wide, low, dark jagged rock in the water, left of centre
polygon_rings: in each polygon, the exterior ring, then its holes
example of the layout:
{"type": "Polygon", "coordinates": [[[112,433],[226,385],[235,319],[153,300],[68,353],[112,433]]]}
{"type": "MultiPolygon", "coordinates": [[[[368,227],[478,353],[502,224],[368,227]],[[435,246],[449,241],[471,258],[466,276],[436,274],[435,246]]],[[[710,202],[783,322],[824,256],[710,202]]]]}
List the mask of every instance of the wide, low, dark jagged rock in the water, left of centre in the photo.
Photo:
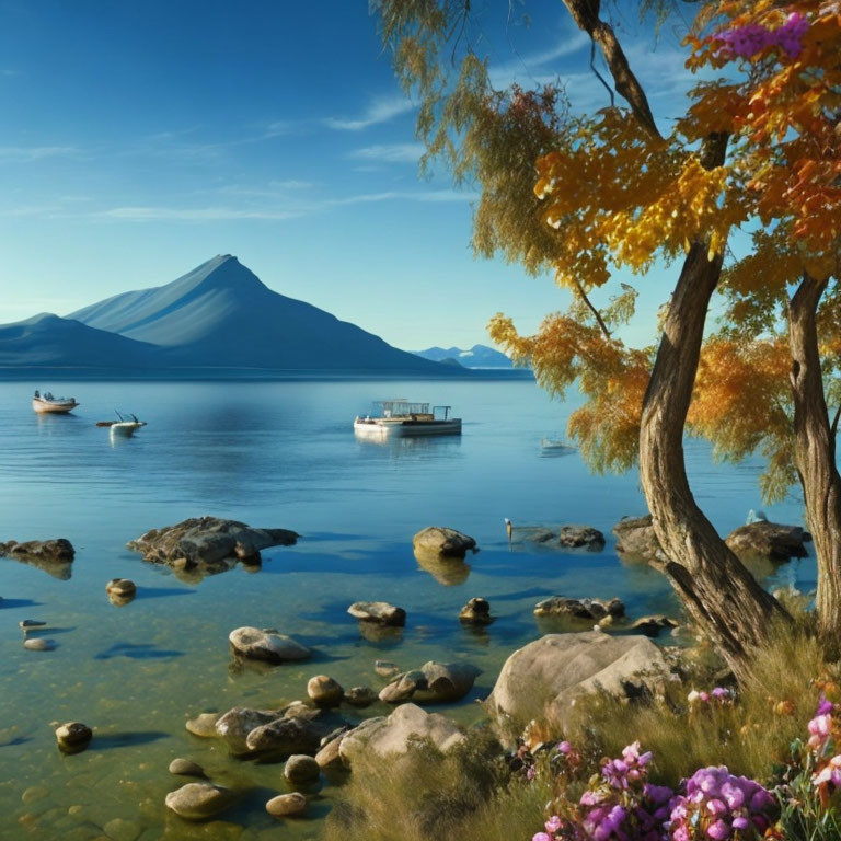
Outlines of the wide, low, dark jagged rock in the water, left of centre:
{"type": "Polygon", "coordinates": [[[230,568],[238,560],[258,557],[261,549],[290,546],[298,538],[299,534],[288,529],[257,529],[238,520],[194,517],[147,531],[127,545],[154,564],[219,572],[230,568]]]}

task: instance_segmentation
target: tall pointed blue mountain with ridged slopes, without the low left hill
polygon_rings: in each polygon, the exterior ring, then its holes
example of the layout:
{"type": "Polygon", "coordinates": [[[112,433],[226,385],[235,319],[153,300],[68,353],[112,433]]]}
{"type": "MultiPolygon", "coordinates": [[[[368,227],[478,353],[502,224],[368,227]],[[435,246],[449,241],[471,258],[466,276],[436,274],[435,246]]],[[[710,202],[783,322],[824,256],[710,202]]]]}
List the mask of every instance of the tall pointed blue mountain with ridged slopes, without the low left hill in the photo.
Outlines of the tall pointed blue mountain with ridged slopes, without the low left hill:
{"type": "Polygon", "coordinates": [[[165,286],[117,295],[68,318],[166,348],[188,367],[453,372],[272,291],[230,254],[165,286]]]}

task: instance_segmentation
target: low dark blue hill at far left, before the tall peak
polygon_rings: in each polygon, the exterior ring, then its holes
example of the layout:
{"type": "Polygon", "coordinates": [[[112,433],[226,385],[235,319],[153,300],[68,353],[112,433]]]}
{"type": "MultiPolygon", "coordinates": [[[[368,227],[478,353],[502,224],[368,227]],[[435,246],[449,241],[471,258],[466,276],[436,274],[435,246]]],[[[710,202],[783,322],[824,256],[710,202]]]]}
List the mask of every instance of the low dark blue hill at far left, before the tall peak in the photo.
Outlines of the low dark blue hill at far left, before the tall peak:
{"type": "Polygon", "coordinates": [[[160,368],[166,354],[70,319],[43,312],[26,321],[0,324],[0,367],[160,368]]]}

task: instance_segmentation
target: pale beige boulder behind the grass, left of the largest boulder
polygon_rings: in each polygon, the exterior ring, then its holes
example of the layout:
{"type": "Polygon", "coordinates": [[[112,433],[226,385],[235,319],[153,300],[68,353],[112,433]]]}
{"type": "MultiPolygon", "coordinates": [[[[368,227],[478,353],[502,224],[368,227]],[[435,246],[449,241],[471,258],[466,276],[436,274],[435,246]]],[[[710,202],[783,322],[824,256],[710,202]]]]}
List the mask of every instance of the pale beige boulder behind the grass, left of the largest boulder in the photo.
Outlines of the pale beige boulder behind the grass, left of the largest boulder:
{"type": "Polygon", "coordinates": [[[346,765],[353,765],[361,756],[401,756],[417,739],[429,739],[439,750],[447,751],[463,741],[464,733],[442,715],[403,704],[388,717],[368,718],[350,730],[342,738],[338,752],[346,765]]]}

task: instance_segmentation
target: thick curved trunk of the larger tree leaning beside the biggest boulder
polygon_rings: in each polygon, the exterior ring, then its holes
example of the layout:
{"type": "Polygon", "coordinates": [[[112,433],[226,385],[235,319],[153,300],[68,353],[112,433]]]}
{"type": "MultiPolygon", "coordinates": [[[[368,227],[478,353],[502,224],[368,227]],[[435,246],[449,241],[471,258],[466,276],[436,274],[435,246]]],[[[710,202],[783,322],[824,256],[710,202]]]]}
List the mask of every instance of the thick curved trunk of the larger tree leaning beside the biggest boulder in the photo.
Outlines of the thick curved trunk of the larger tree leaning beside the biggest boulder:
{"type": "MultiPolygon", "coordinates": [[[[704,166],[721,165],[726,146],[726,137],[711,137],[704,166]]],[[[663,571],[734,671],[744,675],[751,649],[767,640],[771,620],[787,619],[787,613],[727,548],[695,504],[687,480],[683,427],[710,298],[722,270],[722,258],[711,262],[707,256],[705,244],[691,246],[669,303],[643,401],[640,476],[668,558],[663,571]]]]}

